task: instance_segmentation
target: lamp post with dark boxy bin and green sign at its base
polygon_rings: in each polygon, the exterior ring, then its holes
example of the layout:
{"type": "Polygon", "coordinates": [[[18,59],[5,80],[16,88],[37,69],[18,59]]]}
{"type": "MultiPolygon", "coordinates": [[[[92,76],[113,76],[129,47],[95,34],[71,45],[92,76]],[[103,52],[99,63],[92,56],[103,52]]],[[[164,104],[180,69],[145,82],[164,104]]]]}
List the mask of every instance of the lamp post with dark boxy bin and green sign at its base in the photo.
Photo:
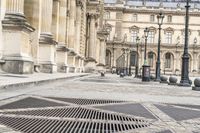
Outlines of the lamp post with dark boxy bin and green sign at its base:
{"type": "Polygon", "coordinates": [[[145,46],[144,46],[144,65],[142,66],[142,81],[150,81],[150,66],[147,65],[147,37],[149,34],[149,29],[145,28],[145,46]]]}

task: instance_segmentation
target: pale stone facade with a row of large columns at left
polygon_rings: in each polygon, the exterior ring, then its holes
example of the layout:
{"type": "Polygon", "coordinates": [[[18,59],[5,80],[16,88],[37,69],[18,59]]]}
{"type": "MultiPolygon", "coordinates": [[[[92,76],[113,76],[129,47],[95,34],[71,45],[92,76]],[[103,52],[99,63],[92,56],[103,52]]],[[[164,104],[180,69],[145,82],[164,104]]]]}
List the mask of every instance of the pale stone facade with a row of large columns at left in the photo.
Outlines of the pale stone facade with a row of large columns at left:
{"type": "Polygon", "coordinates": [[[103,0],[0,0],[0,68],[92,72],[105,65],[103,0]]]}

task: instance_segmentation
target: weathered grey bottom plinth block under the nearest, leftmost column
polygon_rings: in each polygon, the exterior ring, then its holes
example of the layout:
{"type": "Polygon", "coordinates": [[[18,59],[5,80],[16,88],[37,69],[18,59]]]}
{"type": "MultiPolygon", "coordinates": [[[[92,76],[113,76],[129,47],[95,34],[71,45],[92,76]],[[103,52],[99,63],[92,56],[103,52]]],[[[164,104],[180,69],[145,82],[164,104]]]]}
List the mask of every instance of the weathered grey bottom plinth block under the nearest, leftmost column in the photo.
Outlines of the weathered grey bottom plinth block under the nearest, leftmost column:
{"type": "Polygon", "coordinates": [[[34,65],[32,61],[24,60],[5,60],[2,70],[13,74],[32,74],[34,65]]]}

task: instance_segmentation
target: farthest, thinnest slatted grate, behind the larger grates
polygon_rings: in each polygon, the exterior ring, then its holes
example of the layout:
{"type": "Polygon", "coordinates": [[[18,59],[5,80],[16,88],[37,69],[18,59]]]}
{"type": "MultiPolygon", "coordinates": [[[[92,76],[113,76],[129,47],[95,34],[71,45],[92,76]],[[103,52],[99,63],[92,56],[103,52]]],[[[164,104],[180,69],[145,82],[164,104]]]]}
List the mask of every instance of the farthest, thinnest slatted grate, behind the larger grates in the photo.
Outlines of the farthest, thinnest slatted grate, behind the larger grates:
{"type": "Polygon", "coordinates": [[[74,103],[78,105],[91,105],[91,104],[108,104],[108,103],[121,103],[124,101],[114,101],[114,100],[99,100],[99,99],[78,99],[78,98],[57,98],[57,97],[47,97],[54,100],[74,103]]]}

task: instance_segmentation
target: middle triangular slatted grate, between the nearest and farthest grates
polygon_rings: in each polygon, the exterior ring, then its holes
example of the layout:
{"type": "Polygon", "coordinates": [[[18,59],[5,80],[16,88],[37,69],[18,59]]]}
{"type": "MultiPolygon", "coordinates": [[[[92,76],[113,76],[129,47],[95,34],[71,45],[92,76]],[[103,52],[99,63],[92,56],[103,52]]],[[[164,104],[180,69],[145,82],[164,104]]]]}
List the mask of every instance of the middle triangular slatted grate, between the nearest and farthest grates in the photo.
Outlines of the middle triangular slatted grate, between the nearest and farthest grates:
{"type": "Polygon", "coordinates": [[[9,111],[3,114],[79,118],[79,119],[91,119],[91,120],[96,119],[96,120],[110,120],[110,121],[145,122],[144,120],[136,119],[133,117],[102,112],[94,109],[86,109],[83,107],[40,109],[40,110],[12,111],[12,112],[9,111]]]}

